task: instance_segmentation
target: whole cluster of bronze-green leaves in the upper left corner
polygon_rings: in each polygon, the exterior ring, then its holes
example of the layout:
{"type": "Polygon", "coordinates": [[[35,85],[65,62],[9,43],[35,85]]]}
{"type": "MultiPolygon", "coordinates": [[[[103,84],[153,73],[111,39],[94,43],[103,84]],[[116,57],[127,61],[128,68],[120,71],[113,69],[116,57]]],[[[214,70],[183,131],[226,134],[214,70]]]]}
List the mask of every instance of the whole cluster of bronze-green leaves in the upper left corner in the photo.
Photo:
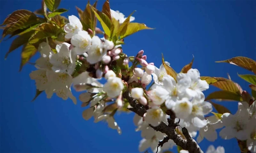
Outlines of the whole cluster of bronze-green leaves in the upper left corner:
{"type": "Polygon", "coordinates": [[[1,29],[4,29],[2,40],[10,35],[18,36],[12,41],[9,51],[5,58],[15,49],[22,46],[20,70],[29,59],[35,55],[38,45],[46,41],[48,38],[49,44],[54,50],[56,40],[64,41],[63,26],[68,22],[67,18],[60,14],[68,11],[66,9],[57,9],[60,0],[43,0],[42,8],[31,12],[28,10],[17,10],[12,12],[5,18],[1,29]],[[47,11],[47,8],[49,11],[47,11]]]}

